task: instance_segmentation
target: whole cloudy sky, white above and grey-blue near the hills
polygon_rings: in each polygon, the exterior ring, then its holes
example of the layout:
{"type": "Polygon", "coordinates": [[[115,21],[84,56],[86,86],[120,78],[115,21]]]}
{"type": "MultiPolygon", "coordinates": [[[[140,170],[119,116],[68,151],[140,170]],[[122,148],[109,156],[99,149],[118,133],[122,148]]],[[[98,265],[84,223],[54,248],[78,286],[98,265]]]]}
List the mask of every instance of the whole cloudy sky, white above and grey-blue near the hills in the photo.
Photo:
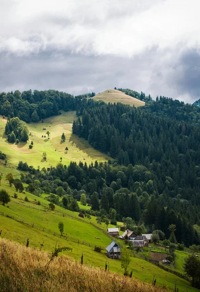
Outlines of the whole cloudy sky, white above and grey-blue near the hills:
{"type": "Polygon", "coordinates": [[[200,98],[199,0],[0,0],[0,91],[200,98]]]}

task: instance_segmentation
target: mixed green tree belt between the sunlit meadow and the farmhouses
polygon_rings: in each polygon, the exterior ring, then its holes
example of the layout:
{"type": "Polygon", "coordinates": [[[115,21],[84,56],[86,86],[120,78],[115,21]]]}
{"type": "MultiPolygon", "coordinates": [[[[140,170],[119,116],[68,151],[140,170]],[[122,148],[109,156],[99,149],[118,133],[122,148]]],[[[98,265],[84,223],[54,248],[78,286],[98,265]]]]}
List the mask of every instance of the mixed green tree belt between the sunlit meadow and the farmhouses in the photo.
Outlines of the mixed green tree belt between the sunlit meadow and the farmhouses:
{"type": "Polygon", "coordinates": [[[85,194],[87,203],[96,212],[91,215],[108,215],[112,223],[130,218],[129,229],[136,222],[145,226],[146,232],[163,231],[166,238],[171,235],[169,225],[175,224],[178,242],[186,246],[200,244],[195,225],[200,224],[200,206],[178,195],[171,198],[166,193],[159,194],[154,173],[144,165],[71,162],[69,166],[59,163],[47,171],[19,162],[18,169],[28,171],[24,178],[27,191],[37,196],[45,192],[55,204],[59,204],[57,196],[63,197],[67,199],[66,208],[78,211],[75,201],[85,194]]]}

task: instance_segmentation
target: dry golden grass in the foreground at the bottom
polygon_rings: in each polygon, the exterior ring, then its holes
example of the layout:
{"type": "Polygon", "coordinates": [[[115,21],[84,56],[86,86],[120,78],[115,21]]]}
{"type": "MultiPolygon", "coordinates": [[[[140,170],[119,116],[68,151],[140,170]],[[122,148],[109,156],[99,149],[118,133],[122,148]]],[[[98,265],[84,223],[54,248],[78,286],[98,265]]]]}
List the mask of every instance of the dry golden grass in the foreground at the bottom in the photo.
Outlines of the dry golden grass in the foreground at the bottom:
{"type": "MultiPolygon", "coordinates": [[[[70,252],[68,252],[70,253],[70,252]]],[[[0,291],[3,292],[164,292],[163,288],[81,265],[58,256],[44,269],[49,255],[6,239],[0,240],[0,291]]]]}

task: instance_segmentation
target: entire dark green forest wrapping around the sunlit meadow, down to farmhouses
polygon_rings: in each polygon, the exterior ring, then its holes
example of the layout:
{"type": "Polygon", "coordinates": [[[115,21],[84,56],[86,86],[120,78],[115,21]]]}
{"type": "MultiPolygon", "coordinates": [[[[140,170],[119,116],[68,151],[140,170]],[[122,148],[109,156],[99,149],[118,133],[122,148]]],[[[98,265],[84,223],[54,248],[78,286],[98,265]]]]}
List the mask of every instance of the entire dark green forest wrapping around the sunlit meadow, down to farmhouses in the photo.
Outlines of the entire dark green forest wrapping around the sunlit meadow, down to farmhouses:
{"type": "MultiPolygon", "coordinates": [[[[200,108],[166,97],[153,101],[136,91],[132,94],[145,100],[145,107],[96,102],[88,98],[93,92],[73,97],[59,91],[34,91],[30,99],[23,92],[11,100],[8,96],[16,92],[0,94],[1,114],[24,120],[25,108],[21,111],[18,101],[27,105],[28,121],[36,115],[42,119],[59,114],[61,109],[76,110],[73,133],[113,158],[94,165],[58,164],[50,172],[20,162],[18,168],[27,172],[30,192],[57,194],[62,187],[71,209],[72,205],[77,208],[74,201],[85,193],[97,216],[108,215],[112,222],[130,217],[138,226],[144,224],[147,232],[162,230],[166,238],[169,225],[175,224],[178,242],[200,244],[194,226],[200,225],[200,108]]],[[[58,203],[54,195],[49,200],[58,203]]]]}

